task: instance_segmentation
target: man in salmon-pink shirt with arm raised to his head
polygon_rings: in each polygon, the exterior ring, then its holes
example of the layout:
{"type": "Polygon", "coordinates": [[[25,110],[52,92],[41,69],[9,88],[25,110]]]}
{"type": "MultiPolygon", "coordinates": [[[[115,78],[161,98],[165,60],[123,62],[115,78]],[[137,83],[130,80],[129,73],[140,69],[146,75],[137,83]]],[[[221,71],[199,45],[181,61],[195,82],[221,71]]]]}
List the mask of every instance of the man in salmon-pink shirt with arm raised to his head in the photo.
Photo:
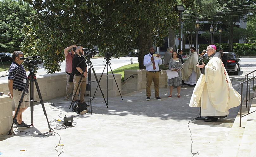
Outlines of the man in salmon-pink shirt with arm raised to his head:
{"type": "Polygon", "coordinates": [[[66,94],[65,94],[65,99],[64,101],[68,101],[70,94],[72,93],[72,88],[73,88],[73,81],[70,82],[70,75],[72,73],[72,60],[75,57],[75,52],[73,51],[73,48],[77,48],[76,45],[72,45],[70,47],[67,47],[64,49],[64,55],[66,59],[66,78],[67,78],[67,87],[66,87],[66,94]],[[70,52],[68,52],[71,49],[70,52]]]}

